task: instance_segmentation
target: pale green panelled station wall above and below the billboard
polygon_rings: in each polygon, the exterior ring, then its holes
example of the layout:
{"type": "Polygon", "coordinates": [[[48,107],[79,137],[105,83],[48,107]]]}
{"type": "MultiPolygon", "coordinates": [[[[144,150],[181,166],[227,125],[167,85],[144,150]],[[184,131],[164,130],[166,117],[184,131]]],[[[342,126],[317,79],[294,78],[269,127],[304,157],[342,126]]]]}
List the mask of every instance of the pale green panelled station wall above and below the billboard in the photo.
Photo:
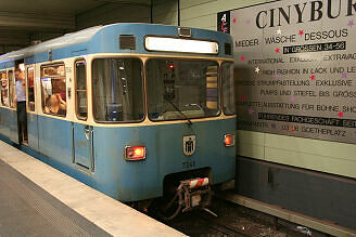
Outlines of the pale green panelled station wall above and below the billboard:
{"type": "MultiPolygon", "coordinates": [[[[217,29],[217,13],[263,0],[180,0],[181,26],[217,29]]],[[[241,32],[243,34],[243,32],[241,32]]],[[[238,155],[356,177],[356,145],[238,130],[238,155]]]]}

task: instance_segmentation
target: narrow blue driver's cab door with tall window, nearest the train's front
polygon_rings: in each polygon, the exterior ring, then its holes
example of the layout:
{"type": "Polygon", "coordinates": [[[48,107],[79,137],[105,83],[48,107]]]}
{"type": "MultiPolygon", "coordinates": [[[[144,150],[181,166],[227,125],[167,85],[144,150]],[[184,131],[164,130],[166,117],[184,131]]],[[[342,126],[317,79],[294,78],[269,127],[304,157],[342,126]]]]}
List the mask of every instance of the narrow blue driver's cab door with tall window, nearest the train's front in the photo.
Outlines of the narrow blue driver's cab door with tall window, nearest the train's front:
{"type": "Polygon", "coordinates": [[[93,130],[87,123],[88,94],[86,62],[75,62],[75,111],[80,122],[73,122],[74,162],[89,171],[93,171],[93,130]]]}

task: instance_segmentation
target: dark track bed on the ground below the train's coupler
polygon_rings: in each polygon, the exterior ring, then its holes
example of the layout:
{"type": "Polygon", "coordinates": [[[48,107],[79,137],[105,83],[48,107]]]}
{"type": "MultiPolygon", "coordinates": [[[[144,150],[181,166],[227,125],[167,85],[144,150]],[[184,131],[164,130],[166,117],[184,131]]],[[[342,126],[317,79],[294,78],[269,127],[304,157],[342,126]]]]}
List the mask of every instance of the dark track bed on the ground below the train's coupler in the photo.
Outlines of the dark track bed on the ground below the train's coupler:
{"type": "Polygon", "coordinates": [[[165,223],[189,236],[305,236],[293,228],[274,224],[263,216],[251,215],[245,208],[219,199],[213,200],[211,210],[218,216],[195,210],[180,213],[176,219],[165,223]]]}

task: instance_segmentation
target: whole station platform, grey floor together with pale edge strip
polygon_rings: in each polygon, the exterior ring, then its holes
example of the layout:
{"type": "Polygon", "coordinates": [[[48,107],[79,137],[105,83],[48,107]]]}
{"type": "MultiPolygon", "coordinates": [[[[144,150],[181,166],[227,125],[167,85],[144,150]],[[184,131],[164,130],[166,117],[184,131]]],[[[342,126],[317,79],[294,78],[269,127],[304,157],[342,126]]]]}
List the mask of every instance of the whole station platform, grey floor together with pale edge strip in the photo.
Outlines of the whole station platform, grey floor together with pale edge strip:
{"type": "Polygon", "coordinates": [[[0,141],[0,236],[183,236],[0,141]]]}

